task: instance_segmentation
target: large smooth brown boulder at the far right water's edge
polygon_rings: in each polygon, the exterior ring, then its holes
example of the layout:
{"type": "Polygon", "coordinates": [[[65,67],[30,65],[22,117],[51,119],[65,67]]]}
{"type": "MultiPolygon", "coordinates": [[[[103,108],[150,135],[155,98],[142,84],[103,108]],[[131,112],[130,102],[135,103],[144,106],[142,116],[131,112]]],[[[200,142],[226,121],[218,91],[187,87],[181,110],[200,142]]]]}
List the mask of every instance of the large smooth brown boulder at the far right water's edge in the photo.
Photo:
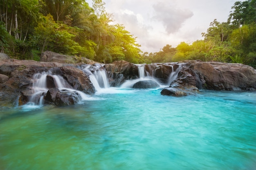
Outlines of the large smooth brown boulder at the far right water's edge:
{"type": "Polygon", "coordinates": [[[191,61],[186,64],[209,90],[256,90],[256,71],[251,66],[221,62],[191,61]]]}

